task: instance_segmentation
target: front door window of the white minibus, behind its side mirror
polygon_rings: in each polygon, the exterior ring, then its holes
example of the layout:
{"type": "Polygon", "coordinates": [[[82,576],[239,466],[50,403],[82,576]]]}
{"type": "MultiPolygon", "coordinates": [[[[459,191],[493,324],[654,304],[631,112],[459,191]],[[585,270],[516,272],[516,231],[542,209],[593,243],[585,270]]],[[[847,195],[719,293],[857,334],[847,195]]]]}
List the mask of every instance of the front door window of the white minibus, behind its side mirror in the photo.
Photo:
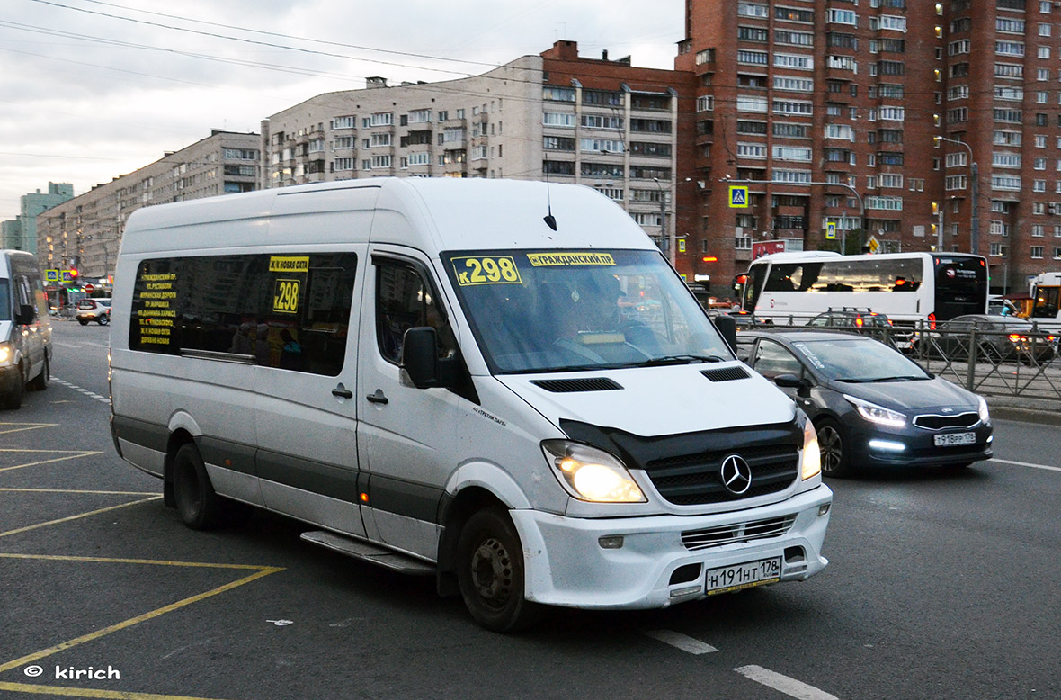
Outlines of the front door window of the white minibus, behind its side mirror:
{"type": "Polygon", "coordinates": [[[424,275],[411,264],[377,260],[376,336],[383,359],[398,364],[405,331],[417,326],[431,326],[438,331],[439,357],[456,349],[453,330],[424,275]]]}

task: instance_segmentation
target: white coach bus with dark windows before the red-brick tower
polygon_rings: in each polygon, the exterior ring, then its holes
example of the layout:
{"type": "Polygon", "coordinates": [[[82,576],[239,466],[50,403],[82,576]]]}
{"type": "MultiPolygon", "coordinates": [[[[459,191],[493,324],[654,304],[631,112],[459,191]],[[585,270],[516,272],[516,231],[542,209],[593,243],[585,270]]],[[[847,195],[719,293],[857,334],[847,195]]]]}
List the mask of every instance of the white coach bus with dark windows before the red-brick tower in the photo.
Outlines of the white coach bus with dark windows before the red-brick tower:
{"type": "Polygon", "coordinates": [[[745,311],[775,323],[805,323],[843,307],[884,313],[914,326],[986,313],[988,264],[979,255],[775,253],[754,260],[734,281],[745,311]]]}

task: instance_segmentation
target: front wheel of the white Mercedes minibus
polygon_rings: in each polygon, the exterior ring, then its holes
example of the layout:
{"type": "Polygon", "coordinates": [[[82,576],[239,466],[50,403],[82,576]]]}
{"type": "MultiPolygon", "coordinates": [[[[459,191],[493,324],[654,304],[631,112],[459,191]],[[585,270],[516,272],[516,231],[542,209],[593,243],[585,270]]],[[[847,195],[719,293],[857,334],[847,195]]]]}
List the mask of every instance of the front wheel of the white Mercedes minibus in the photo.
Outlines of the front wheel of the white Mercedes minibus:
{"type": "Polygon", "coordinates": [[[457,542],[457,583],[468,612],[493,632],[516,632],[535,622],[539,605],[524,598],[523,547],[508,513],[481,510],[457,542]]]}

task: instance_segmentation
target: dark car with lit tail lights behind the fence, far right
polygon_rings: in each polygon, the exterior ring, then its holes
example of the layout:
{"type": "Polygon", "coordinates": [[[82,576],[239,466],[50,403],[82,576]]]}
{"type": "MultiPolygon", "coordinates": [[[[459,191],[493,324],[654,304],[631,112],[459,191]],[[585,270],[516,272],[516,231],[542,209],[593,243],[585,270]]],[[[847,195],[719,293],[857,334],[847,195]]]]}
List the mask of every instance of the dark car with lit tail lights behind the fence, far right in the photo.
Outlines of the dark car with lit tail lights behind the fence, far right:
{"type": "Polygon", "coordinates": [[[939,325],[934,351],[951,360],[968,360],[973,326],[976,357],[989,362],[1020,359],[1025,364],[1049,362],[1057,354],[1057,337],[1036,330],[1032,323],[1015,317],[970,313],[939,325]]]}

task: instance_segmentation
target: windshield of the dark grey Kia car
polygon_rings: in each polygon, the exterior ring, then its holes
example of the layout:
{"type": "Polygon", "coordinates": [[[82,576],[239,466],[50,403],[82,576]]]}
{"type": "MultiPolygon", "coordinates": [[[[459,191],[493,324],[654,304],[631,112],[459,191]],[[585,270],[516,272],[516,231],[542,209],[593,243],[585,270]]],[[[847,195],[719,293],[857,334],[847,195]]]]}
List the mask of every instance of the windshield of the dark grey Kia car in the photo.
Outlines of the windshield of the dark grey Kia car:
{"type": "Polygon", "coordinates": [[[830,379],[839,381],[914,381],[930,379],[920,366],[869,338],[837,338],[793,343],[798,355],[830,379]]]}

